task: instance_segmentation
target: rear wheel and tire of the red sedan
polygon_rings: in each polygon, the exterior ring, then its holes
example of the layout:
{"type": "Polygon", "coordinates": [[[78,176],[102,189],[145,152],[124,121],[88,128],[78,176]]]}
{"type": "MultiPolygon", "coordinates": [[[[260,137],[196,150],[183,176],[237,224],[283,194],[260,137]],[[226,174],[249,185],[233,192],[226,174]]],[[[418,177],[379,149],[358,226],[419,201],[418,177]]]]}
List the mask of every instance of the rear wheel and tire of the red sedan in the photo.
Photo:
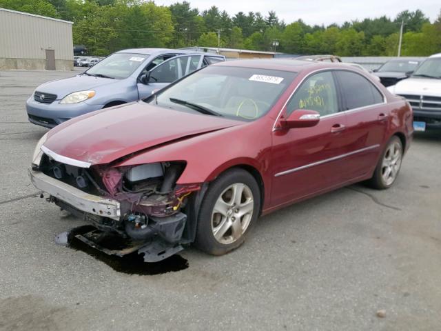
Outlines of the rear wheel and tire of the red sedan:
{"type": "Polygon", "coordinates": [[[393,136],[387,142],[373,172],[373,176],[367,182],[368,185],[377,190],[390,188],[395,183],[400,172],[402,156],[402,142],[400,138],[393,136]]]}

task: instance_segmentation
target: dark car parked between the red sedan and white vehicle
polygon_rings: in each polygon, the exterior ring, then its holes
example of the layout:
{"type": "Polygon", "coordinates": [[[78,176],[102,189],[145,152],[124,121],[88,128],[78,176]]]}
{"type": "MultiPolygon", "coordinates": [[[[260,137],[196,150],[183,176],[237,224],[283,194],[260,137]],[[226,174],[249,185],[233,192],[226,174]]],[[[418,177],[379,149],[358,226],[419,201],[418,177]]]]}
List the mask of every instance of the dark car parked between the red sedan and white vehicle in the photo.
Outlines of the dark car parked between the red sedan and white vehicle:
{"type": "Polygon", "coordinates": [[[392,86],[407,79],[415,70],[422,59],[393,59],[384,63],[380,68],[373,70],[373,74],[380,77],[384,86],[392,86]]]}

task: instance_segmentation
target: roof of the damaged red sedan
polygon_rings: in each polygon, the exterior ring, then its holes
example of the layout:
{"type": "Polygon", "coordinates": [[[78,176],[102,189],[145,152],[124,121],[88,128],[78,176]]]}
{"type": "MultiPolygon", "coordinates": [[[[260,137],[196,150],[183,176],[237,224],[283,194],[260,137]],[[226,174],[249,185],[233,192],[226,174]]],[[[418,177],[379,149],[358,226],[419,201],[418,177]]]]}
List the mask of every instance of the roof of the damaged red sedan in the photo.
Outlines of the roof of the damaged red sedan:
{"type": "Polygon", "coordinates": [[[341,68],[338,63],[327,63],[319,61],[294,60],[294,59],[249,59],[225,61],[212,64],[212,66],[227,66],[241,68],[256,68],[269,70],[283,70],[300,72],[303,70],[314,70],[320,68],[341,68]]]}

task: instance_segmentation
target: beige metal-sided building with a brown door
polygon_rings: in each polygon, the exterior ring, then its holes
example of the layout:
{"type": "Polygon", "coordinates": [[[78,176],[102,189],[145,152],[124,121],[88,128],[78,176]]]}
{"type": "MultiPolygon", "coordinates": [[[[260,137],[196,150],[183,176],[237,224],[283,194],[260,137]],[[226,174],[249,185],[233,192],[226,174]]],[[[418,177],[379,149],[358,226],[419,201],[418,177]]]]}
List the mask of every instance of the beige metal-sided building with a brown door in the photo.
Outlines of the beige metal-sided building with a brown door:
{"type": "Polygon", "coordinates": [[[0,8],[0,69],[71,70],[72,24],[0,8]]]}

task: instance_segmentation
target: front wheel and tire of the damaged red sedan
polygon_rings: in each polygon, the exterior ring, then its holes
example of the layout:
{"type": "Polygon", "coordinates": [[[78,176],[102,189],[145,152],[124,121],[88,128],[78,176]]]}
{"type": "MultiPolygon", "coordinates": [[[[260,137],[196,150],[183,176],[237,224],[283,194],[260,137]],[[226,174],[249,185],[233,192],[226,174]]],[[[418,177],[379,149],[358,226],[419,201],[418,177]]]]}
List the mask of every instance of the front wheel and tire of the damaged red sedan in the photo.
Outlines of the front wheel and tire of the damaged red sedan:
{"type": "Polygon", "coordinates": [[[242,169],[228,170],[209,185],[205,194],[198,215],[196,247],[213,255],[238,248],[256,223],[259,211],[256,179],[242,169]],[[240,192],[240,199],[234,199],[234,192],[240,192]]]}

